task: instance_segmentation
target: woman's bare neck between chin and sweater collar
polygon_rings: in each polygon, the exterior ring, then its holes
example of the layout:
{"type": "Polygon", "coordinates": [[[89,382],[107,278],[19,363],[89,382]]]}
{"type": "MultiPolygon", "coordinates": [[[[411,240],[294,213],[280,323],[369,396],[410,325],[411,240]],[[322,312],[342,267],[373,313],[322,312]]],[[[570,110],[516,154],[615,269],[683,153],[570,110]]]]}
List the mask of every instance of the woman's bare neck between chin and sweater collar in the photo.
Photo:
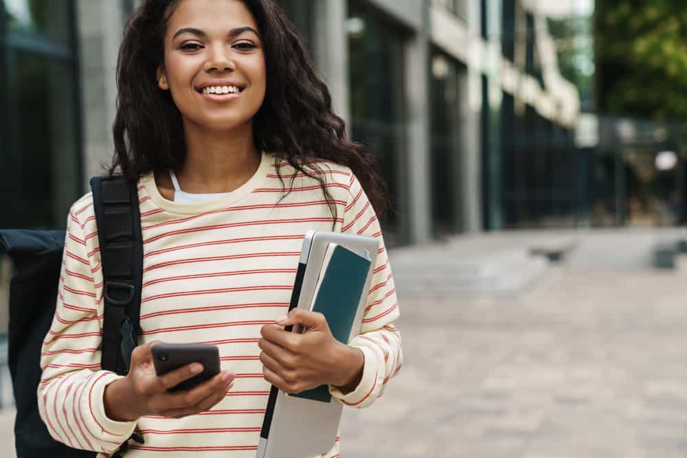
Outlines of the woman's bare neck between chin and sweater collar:
{"type": "Polygon", "coordinates": [[[232,192],[258,170],[260,152],[251,123],[234,130],[201,130],[184,123],[186,159],[176,170],[181,189],[194,194],[232,192]]]}

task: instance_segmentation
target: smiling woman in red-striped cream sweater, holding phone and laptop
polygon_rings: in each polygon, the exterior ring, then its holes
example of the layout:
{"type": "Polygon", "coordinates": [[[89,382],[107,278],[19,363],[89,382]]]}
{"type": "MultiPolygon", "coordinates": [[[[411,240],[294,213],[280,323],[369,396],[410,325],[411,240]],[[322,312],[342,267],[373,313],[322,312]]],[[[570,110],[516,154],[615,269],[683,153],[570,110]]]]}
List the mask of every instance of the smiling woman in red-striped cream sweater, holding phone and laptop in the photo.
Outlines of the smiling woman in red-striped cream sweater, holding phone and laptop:
{"type": "MultiPolygon", "coordinates": [[[[111,173],[138,182],[144,238],[141,328],[125,377],[100,370],[102,271],[90,194],[71,208],[60,294],[41,360],[41,417],[74,448],[127,456],[254,457],[269,384],[330,385],[366,407],[401,367],[392,273],[372,157],[346,140],[325,84],[273,0],[147,0],[117,64],[111,173]],[[363,191],[364,189],[364,191],[363,191]],[[368,199],[369,196],[369,199],[368,199]],[[308,229],[379,238],[361,336],[333,339],[321,315],[286,314],[308,229]],[[284,331],[300,323],[302,335],[284,331]],[[218,345],[223,371],[158,377],[155,341],[218,345]]],[[[323,457],[337,457],[338,439],[323,457]]]]}

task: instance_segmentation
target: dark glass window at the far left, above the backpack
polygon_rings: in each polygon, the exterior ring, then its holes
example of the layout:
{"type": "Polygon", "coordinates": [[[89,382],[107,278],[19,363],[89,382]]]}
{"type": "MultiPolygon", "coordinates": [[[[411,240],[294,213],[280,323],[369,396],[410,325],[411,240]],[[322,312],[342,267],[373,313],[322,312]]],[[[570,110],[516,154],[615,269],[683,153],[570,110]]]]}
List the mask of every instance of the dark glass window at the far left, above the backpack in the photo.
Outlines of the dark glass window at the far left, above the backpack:
{"type": "Polygon", "coordinates": [[[0,1],[0,227],[64,227],[82,193],[74,9],[0,1]]]}

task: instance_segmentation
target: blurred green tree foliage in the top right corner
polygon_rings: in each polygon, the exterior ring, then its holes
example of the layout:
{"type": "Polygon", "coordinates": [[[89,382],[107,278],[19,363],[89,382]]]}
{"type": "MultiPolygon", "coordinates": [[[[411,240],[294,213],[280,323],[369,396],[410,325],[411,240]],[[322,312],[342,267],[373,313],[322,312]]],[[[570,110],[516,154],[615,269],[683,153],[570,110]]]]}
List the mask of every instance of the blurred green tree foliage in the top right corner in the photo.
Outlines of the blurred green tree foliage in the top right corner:
{"type": "Polygon", "coordinates": [[[684,0],[597,0],[600,111],[687,126],[684,0]]]}

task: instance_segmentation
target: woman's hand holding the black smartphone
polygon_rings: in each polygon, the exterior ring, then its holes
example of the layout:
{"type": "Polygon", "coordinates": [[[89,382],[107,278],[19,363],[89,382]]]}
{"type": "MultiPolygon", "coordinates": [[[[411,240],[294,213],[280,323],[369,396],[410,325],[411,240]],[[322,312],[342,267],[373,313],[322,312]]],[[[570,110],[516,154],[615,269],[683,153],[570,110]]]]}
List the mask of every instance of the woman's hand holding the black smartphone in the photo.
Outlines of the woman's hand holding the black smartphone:
{"type": "Polygon", "coordinates": [[[139,345],[131,353],[131,369],[126,377],[107,385],[103,402],[111,420],[129,422],[144,415],[181,418],[207,411],[220,402],[232,388],[236,376],[228,371],[188,391],[167,390],[203,371],[192,363],[157,376],[150,347],[158,341],[139,345]]]}

